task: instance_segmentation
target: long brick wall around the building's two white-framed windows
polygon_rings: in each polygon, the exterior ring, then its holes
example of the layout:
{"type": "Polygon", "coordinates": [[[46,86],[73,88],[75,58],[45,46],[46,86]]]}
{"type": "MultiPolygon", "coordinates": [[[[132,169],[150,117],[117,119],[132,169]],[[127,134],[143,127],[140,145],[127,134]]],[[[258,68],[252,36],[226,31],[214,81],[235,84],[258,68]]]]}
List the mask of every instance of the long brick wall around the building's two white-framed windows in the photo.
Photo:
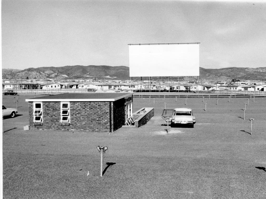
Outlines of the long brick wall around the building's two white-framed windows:
{"type": "Polygon", "coordinates": [[[43,123],[34,123],[33,102],[29,102],[32,129],[110,132],[113,128],[110,129],[110,102],[70,102],[70,123],[61,123],[60,119],[60,102],[43,102],[43,123]]]}

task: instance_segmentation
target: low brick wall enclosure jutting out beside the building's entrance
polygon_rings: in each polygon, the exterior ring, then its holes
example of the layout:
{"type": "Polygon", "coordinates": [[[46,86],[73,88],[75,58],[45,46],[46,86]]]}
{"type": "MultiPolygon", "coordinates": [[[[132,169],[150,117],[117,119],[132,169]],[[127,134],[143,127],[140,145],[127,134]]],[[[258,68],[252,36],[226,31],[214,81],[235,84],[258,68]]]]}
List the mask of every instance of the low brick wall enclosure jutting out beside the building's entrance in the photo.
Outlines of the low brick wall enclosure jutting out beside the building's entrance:
{"type": "Polygon", "coordinates": [[[133,113],[135,127],[143,126],[154,116],[154,108],[142,108],[133,113]]]}

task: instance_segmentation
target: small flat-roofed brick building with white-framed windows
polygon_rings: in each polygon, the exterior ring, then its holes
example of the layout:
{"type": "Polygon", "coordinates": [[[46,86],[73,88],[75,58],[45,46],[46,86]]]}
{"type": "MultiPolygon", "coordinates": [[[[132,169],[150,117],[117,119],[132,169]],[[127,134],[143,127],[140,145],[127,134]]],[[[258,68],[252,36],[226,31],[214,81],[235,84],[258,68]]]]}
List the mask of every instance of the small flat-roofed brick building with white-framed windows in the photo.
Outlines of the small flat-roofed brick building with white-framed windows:
{"type": "Polygon", "coordinates": [[[41,130],[113,132],[132,119],[132,93],[64,93],[26,99],[29,126],[41,130]]]}

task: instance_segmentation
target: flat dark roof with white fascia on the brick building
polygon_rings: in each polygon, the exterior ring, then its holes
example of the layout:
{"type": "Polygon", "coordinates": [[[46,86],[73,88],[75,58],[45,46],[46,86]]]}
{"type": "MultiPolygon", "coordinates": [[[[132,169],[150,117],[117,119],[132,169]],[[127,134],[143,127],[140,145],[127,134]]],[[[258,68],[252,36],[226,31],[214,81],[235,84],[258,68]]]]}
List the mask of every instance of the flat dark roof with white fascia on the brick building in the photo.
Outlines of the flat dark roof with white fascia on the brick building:
{"type": "Polygon", "coordinates": [[[132,93],[63,93],[26,99],[26,102],[114,102],[132,93]]]}

